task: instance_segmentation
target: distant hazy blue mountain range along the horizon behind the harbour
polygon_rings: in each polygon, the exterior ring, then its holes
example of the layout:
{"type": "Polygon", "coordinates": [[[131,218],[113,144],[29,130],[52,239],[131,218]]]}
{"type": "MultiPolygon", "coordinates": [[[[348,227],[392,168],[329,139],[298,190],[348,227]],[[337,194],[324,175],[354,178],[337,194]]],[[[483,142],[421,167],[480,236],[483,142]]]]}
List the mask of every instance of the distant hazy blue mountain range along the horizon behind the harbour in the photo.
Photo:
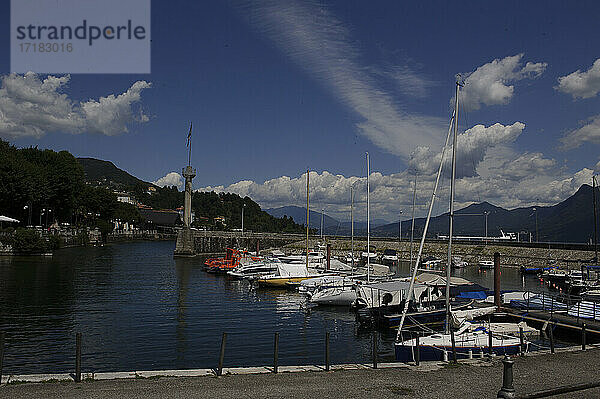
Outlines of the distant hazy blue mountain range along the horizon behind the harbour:
{"type": "MultiPolygon", "coordinates": [[[[145,182],[119,169],[110,161],[94,158],[77,158],[82,165],[86,181],[95,184],[109,185],[115,189],[131,189],[145,182]]],[[[462,236],[485,236],[487,213],[487,234],[497,237],[500,230],[505,233],[519,234],[521,241],[542,242],[580,242],[587,243],[593,239],[594,211],[592,187],[584,184],[575,194],[553,206],[530,206],[507,210],[489,202],[469,205],[455,212],[454,234],[462,236]],[[536,223],[537,219],[537,223],[536,223]],[[537,224],[537,228],[536,228],[537,224]]],[[[600,200],[600,189],[596,188],[596,199],[600,200]]],[[[284,206],[265,209],[272,216],[291,217],[298,224],[306,224],[306,208],[284,206]]],[[[600,212],[600,208],[598,209],[600,212]]],[[[415,236],[420,237],[425,218],[415,219],[415,236]]],[[[321,212],[310,211],[310,227],[320,230],[321,212]]],[[[366,234],[366,223],[354,222],[354,233],[357,236],[366,234]]],[[[402,236],[410,236],[411,220],[402,221],[402,236]]],[[[348,221],[339,221],[325,214],[323,216],[325,234],[350,235],[351,226],[348,221]]],[[[380,237],[398,237],[398,223],[384,220],[371,220],[371,234],[380,237]]],[[[428,236],[448,234],[448,213],[432,217],[428,236]]],[[[600,237],[599,237],[600,238],[600,237]]]]}

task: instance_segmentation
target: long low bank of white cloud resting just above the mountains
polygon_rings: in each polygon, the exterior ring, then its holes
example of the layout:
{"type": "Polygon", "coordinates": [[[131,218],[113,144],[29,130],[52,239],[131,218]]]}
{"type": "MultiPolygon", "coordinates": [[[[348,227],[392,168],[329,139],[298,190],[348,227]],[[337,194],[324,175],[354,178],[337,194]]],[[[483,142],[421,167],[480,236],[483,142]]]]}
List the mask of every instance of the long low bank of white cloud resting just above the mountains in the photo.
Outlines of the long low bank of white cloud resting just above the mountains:
{"type": "MultiPolygon", "coordinates": [[[[439,158],[438,158],[439,159],[439,158]]],[[[600,168],[600,166],[597,166],[600,168]]],[[[582,184],[590,184],[591,168],[566,172],[557,162],[541,153],[517,153],[506,146],[488,149],[477,166],[477,174],[462,176],[456,181],[456,206],[489,201],[505,208],[531,205],[553,205],[572,195],[582,184]]],[[[418,216],[424,216],[435,173],[420,173],[417,182],[418,216]]],[[[311,209],[325,208],[328,215],[341,221],[350,218],[350,187],[355,187],[355,219],[366,219],[366,178],[343,176],[327,171],[311,172],[311,209]]],[[[397,220],[399,210],[404,218],[410,217],[414,175],[408,170],[383,175],[371,173],[371,217],[397,220]]],[[[440,186],[435,207],[436,214],[447,211],[448,180],[440,186]]],[[[306,201],[306,174],[298,177],[282,176],[263,183],[249,180],[229,186],[204,187],[199,191],[232,192],[249,196],[263,208],[287,205],[304,206],[306,201]]]]}

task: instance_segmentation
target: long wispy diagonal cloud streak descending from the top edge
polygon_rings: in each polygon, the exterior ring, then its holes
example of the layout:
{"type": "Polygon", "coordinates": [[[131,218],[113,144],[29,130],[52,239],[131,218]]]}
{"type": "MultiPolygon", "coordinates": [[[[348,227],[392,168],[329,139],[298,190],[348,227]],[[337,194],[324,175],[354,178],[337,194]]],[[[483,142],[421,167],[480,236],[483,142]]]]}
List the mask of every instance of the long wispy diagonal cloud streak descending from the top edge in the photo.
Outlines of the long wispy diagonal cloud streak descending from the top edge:
{"type": "MultiPolygon", "coordinates": [[[[381,84],[381,74],[363,62],[350,31],[325,6],[265,1],[239,9],[250,25],[353,110],[358,130],[378,147],[408,159],[415,147],[439,142],[446,121],[403,110],[381,84]]],[[[406,68],[393,72],[405,94],[424,95],[426,80],[406,68]]]]}

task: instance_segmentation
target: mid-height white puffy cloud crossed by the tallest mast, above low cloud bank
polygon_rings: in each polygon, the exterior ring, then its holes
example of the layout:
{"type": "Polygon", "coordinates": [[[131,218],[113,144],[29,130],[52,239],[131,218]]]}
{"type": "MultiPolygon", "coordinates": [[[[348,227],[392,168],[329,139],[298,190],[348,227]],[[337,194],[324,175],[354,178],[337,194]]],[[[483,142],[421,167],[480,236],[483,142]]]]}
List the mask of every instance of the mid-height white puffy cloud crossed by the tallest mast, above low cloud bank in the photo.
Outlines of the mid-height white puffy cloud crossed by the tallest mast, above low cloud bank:
{"type": "MultiPolygon", "coordinates": [[[[456,138],[456,176],[476,175],[477,165],[484,159],[487,151],[497,145],[512,143],[525,128],[525,124],[515,122],[512,125],[496,123],[489,127],[475,125],[456,138]]],[[[421,173],[433,174],[440,164],[441,151],[432,153],[427,147],[418,147],[411,155],[409,167],[421,173]]],[[[446,151],[444,170],[450,172],[451,151],[446,151]]]]}

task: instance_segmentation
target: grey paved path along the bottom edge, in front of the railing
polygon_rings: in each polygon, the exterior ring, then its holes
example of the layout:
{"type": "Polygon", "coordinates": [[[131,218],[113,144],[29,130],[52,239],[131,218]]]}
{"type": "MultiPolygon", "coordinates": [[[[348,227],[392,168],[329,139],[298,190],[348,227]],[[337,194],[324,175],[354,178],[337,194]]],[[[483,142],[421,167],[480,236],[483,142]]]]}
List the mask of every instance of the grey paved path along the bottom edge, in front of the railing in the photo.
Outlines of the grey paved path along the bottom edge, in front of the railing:
{"type": "MultiPolygon", "coordinates": [[[[515,359],[514,386],[529,393],[600,379],[600,349],[515,359]]],[[[222,377],[159,377],[104,381],[4,384],[0,398],[495,398],[502,363],[432,364],[404,368],[336,370],[222,377]],[[429,371],[426,371],[429,370],[429,371]]],[[[554,398],[600,398],[600,389],[554,398]]]]}

